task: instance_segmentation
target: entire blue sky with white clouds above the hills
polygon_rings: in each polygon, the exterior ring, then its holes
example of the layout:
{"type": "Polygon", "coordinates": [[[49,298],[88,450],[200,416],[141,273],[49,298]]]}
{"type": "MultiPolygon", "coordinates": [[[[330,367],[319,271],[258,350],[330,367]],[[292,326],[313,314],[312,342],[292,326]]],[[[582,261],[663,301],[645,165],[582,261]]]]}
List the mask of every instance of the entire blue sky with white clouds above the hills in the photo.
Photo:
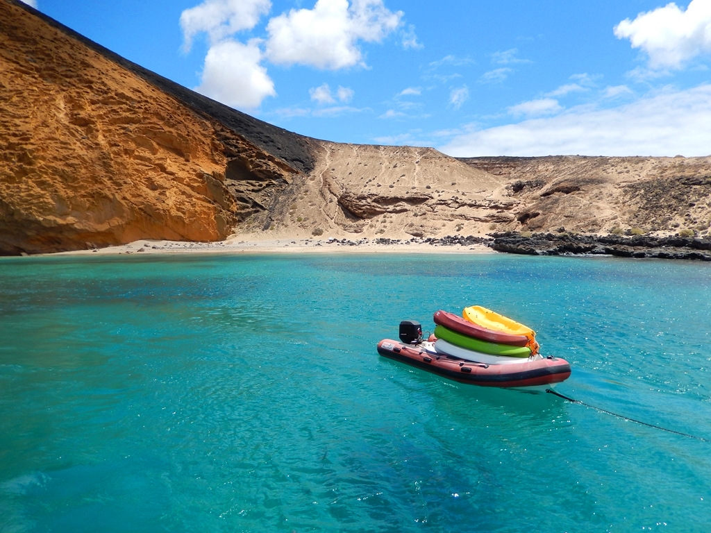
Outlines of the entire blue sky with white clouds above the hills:
{"type": "Polygon", "coordinates": [[[454,156],[711,154],[711,0],[35,5],[186,87],[319,139],[454,156]]]}

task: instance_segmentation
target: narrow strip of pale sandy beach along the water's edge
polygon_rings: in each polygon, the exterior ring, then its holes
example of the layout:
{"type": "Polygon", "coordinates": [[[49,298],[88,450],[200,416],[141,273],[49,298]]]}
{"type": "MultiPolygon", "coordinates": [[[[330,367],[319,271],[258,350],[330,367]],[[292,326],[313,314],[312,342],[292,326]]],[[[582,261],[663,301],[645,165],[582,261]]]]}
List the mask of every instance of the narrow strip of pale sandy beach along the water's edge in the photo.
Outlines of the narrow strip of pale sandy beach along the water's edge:
{"type": "Polygon", "coordinates": [[[443,244],[443,239],[313,239],[251,240],[235,235],[217,242],[139,239],[121,246],[46,255],[115,254],[496,254],[486,244],[443,244]]]}

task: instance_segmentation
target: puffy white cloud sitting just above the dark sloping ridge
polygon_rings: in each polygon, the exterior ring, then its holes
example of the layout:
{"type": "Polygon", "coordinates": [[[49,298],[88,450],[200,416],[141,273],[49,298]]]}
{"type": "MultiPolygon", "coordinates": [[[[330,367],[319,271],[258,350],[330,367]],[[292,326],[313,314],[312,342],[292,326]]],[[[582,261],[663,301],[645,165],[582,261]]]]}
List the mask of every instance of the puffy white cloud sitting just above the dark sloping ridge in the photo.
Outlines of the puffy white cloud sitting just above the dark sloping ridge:
{"type": "Polygon", "coordinates": [[[253,109],[268,96],[276,96],[274,82],[260,65],[257,42],[223,41],[208,50],[201,84],[196,91],[230,107],[253,109]]]}

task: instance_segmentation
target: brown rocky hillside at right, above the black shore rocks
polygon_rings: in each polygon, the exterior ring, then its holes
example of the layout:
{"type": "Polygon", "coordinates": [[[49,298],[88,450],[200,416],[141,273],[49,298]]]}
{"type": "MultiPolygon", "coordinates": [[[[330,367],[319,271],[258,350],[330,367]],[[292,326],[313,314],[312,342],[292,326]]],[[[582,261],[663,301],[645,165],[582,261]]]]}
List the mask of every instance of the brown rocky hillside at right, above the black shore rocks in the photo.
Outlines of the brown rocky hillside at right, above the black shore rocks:
{"type": "Polygon", "coordinates": [[[686,230],[707,235],[711,157],[479,157],[473,168],[507,182],[520,202],[501,230],[587,233],[686,230]]]}

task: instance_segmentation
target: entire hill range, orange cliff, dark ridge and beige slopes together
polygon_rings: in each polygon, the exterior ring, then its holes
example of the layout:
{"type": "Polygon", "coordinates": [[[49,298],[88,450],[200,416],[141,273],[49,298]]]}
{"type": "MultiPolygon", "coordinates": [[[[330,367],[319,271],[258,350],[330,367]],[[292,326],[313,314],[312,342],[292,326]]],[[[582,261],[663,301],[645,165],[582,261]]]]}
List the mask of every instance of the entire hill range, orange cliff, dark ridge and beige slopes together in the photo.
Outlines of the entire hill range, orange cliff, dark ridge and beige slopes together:
{"type": "Polygon", "coordinates": [[[709,158],[464,158],[309,139],[0,0],[0,254],[136,239],[707,231],[709,158]]]}

